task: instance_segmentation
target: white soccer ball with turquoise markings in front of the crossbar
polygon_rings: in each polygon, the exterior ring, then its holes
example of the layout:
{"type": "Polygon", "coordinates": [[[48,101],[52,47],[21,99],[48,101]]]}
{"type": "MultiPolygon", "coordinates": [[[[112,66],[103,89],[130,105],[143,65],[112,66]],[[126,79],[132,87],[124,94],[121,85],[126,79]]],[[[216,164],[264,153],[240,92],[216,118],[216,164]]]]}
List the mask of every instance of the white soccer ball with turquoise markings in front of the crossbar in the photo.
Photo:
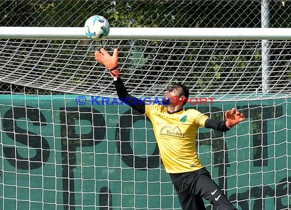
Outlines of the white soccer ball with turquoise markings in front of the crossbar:
{"type": "Polygon", "coordinates": [[[85,22],[85,33],[89,39],[101,41],[107,38],[110,31],[108,20],[100,15],[93,15],[85,22]]]}

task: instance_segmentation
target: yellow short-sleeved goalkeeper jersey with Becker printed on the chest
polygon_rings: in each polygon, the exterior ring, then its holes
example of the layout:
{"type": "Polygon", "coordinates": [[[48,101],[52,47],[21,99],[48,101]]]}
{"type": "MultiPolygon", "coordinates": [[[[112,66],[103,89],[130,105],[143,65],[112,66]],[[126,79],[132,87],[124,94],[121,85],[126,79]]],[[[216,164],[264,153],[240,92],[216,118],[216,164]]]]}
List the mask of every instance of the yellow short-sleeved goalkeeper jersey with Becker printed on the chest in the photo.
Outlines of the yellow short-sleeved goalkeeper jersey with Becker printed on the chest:
{"type": "Polygon", "coordinates": [[[146,105],[151,119],[161,159],[167,173],[195,171],[203,167],[196,152],[198,128],[205,125],[208,116],[188,109],[169,114],[159,104],[146,105]]]}

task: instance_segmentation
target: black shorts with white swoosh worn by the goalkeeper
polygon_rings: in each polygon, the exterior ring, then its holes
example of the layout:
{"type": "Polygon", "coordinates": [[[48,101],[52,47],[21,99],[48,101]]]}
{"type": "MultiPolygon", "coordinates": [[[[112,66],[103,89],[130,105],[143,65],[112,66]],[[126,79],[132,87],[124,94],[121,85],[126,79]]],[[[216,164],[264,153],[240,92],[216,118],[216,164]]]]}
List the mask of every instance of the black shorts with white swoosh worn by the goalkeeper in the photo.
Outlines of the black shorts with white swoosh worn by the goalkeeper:
{"type": "Polygon", "coordinates": [[[212,180],[205,167],[197,171],[170,174],[170,176],[183,210],[205,209],[202,198],[208,200],[217,209],[237,209],[212,180]]]}

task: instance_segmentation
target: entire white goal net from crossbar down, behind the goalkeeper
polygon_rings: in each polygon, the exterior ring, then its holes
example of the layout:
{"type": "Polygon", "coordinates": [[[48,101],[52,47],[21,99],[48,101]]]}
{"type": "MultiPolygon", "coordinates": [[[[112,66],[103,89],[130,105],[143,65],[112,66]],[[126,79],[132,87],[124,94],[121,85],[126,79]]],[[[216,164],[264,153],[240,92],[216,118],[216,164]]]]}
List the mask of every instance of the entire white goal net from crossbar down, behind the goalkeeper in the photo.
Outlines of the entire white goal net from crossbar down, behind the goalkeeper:
{"type": "Polygon", "coordinates": [[[225,134],[200,128],[201,161],[238,209],[290,207],[290,40],[1,39],[3,209],[181,209],[151,122],[116,102],[94,60],[101,47],[118,47],[136,97],[183,82],[198,99],[186,109],[244,113],[225,134]]]}

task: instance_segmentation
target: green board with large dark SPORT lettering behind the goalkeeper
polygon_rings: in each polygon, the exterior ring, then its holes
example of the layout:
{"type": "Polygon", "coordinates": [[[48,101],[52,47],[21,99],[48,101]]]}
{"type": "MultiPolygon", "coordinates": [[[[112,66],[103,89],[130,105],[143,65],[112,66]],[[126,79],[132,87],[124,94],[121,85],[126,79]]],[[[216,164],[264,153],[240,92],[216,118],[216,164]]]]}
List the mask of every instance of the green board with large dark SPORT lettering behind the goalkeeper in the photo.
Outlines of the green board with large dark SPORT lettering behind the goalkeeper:
{"type": "MultiPolygon", "coordinates": [[[[0,208],[181,209],[150,120],[114,98],[76,97],[1,96],[0,208]]],[[[203,165],[238,209],[291,208],[290,101],[186,106],[247,117],[197,136],[203,165]]]]}

